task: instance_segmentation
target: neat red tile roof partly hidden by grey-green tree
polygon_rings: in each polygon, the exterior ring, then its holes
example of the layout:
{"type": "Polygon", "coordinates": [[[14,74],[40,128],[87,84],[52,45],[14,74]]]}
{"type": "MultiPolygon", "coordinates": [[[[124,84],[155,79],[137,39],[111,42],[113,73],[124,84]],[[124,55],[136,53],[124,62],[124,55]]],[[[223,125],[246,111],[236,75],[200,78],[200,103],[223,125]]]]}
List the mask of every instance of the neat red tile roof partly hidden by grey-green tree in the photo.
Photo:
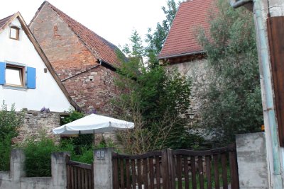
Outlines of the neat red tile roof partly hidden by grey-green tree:
{"type": "Polygon", "coordinates": [[[209,30],[209,11],[214,0],[188,0],[180,4],[159,59],[202,52],[195,38],[197,27],[209,30]]]}

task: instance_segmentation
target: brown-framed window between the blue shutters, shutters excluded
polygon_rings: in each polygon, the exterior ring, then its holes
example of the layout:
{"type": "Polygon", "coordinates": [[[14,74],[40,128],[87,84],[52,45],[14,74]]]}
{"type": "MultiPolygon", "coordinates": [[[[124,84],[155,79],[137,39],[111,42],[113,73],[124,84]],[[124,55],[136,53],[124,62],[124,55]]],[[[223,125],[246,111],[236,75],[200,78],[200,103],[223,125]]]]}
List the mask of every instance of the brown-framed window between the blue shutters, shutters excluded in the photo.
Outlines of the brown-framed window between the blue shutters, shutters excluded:
{"type": "Polygon", "coordinates": [[[14,65],[6,65],[6,85],[7,86],[25,86],[25,68],[14,65]]]}

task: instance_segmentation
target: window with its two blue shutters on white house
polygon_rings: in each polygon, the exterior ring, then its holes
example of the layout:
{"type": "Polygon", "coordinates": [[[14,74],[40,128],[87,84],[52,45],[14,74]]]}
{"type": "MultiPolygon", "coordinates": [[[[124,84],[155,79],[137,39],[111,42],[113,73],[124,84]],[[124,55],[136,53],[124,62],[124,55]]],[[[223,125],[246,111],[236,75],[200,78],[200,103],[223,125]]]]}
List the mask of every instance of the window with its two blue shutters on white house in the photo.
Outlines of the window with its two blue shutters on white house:
{"type": "Polygon", "coordinates": [[[0,85],[35,88],[35,68],[22,64],[0,62],[0,85]]]}

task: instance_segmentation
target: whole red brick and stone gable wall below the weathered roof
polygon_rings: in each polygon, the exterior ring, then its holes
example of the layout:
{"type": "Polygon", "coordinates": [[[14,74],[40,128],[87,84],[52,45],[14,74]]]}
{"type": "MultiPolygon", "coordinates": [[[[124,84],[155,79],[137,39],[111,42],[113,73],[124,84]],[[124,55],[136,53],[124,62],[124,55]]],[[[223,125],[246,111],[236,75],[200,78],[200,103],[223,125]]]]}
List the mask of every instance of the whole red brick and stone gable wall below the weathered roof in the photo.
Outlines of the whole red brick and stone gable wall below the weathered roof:
{"type": "Polygon", "coordinates": [[[109,101],[116,94],[114,71],[102,66],[90,69],[99,65],[97,59],[47,4],[30,28],[60,79],[74,76],[63,84],[80,108],[111,115],[109,101]],[[87,69],[90,70],[79,74],[87,69]]]}

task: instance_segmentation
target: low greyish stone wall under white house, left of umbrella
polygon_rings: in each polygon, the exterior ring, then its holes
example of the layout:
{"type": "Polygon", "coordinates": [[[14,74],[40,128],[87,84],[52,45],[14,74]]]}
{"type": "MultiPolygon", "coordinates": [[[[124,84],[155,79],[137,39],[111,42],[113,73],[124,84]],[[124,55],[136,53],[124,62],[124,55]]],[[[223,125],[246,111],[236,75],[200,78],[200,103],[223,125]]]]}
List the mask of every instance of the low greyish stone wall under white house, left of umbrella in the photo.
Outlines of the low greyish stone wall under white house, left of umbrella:
{"type": "Polygon", "coordinates": [[[13,142],[21,143],[28,137],[39,137],[40,134],[59,139],[59,136],[53,134],[53,129],[60,126],[60,114],[62,113],[26,111],[23,126],[18,129],[18,137],[13,142]]]}

